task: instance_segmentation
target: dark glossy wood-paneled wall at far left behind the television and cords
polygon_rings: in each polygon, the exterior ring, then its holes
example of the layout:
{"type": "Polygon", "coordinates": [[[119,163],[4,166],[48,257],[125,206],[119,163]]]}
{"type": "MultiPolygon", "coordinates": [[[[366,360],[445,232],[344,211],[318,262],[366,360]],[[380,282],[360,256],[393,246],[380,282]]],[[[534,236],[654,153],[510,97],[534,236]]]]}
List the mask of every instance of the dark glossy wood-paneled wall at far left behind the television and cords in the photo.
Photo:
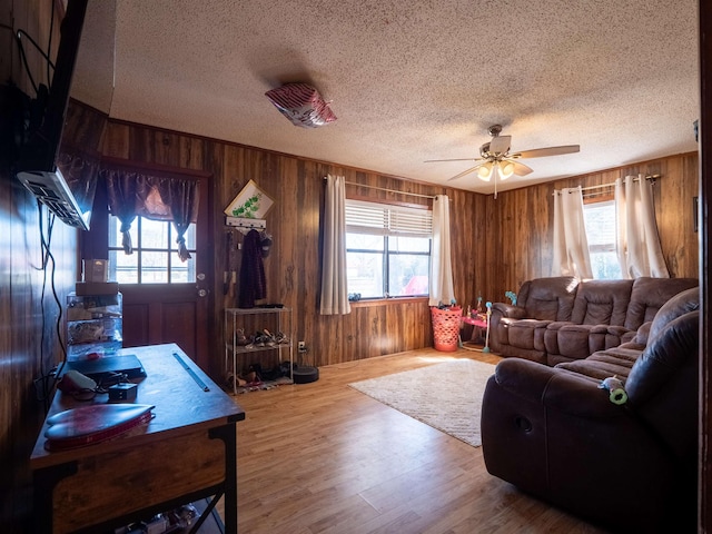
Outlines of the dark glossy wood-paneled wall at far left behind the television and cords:
{"type": "MultiPolygon", "coordinates": [[[[38,42],[46,43],[51,9],[48,1],[0,0],[0,23],[21,28],[38,42]]],[[[51,55],[59,43],[59,22],[55,31],[51,55]]],[[[33,96],[18,59],[12,32],[0,31],[0,36],[1,82],[12,80],[26,95],[33,96]]],[[[47,83],[44,60],[31,47],[28,62],[36,82],[47,83]]],[[[78,271],[77,230],[57,220],[50,231],[47,209],[39,211],[34,197],[14,178],[12,162],[17,151],[9,117],[18,111],[17,102],[8,102],[3,88],[0,91],[0,525],[3,532],[29,532],[26,525],[32,513],[29,457],[44,417],[42,377],[63,357],[58,332],[63,332],[62,310],[67,294],[75,289],[78,271]],[[43,257],[42,236],[49,240],[51,257],[43,257]]],[[[77,136],[75,145],[96,150],[105,119],[85,120],[83,127],[66,132],[67,138],[77,136]]]]}

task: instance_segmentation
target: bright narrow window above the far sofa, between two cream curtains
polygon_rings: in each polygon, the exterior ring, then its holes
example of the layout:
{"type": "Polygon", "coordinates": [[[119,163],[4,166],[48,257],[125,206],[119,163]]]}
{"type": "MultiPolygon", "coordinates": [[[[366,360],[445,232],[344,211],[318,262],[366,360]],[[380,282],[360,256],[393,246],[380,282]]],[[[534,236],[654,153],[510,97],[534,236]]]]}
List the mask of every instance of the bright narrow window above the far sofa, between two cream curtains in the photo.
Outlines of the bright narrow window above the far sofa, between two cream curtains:
{"type": "Polygon", "coordinates": [[[584,204],[583,218],[593,277],[603,280],[623,278],[615,247],[615,201],[584,204]]]}

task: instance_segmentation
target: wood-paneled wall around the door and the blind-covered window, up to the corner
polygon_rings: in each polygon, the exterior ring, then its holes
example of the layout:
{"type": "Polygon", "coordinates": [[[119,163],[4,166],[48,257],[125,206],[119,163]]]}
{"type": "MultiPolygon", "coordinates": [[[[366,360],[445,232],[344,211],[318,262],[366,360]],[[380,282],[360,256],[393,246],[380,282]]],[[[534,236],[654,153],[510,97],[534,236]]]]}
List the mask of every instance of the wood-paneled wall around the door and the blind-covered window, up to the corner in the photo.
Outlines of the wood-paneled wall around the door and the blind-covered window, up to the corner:
{"type": "MultiPolygon", "coordinates": [[[[320,316],[320,212],[324,178],[345,176],[364,187],[349,187],[349,196],[384,201],[423,204],[428,199],[375,189],[393,189],[418,195],[446,194],[453,217],[455,288],[458,299],[475,293],[472,266],[485,250],[486,197],[432,185],[415,184],[366,170],[296,158],[250,147],[180,135],[138,125],[110,121],[105,135],[106,156],[204,170],[212,175],[216,305],[212,327],[216,363],[221,362],[222,309],[236,303],[222,297],[221,270],[225,260],[222,209],[250,180],[275,200],[267,214],[267,230],[274,245],[265,259],[267,301],[294,309],[295,337],[305,340],[309,353],[304,363],[327,365],[397,353],[432,345],[429,307],[424,298],[380,303],[358,303],[347,316],[320,316]]],[[[238,260],[239,266],[239,260],[238,260]]],[[[219,365],[212,366],[217,370],[219,365]]]]}

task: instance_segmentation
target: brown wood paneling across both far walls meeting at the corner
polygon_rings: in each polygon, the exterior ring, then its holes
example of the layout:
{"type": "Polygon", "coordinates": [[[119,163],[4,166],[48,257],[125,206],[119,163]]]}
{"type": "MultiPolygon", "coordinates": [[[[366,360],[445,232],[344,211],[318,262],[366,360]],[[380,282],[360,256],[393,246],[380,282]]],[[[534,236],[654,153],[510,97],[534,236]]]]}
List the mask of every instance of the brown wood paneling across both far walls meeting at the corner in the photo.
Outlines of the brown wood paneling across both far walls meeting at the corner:
{"type": "MultiPolygon", "coordinates": [[[[656,211],[661,239],[673,276],[698,276],[696,234],[692,231],[692,197],[696,191],[696,155],[675,156],[636,166],[580,176],[542,186],[501,192],[497,199],[458,189],[417,184],[392,176],[297,158],[257,148],[110,121],[103,152],[113,158],[204,170],[215,180],[215,265],[222,269],[226,231],[221,210],[253,179],[275,200],[267,214],[274,245],[265,260],[267,301],[294,309],[295,337],[309,347],[305,363],[353,362],[432,345],[426,299],[388,299],[354,304],[346,316],[318,313],[320,284],[320,212],[324,177],[345,176],[348,196],[406,204],[427,199],[404,194],[447,194],[451,198],[455,293],[461,303],[504,300],[504,291],[522,281],[551,275],[553,190],[612,182],[627,174],[660,174],[656,211]],[[367,187],[372,186],[372,187],[367,187]],[[683,214],[684,217],[681,215],[683,214]]],[[[238,263],[239,265],[239,263],[238,263]]],[[[216,365],[221,358],[222,309],[235,306],[221,297],[215,277],[212,328],[216,365]]]]}

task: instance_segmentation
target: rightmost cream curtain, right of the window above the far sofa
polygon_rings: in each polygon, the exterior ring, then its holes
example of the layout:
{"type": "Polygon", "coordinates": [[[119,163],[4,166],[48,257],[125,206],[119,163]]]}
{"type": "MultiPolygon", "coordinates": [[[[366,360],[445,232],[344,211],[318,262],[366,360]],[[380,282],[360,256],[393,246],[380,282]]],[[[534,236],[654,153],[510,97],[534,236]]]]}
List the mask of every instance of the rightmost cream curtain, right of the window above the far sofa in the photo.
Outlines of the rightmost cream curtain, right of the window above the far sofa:
{"type": "Polygon", "coordinates": [[[644,175],[615,180],[617,254],[627,278],[670,278],[655,221],[653,184],[644,175]]]}

